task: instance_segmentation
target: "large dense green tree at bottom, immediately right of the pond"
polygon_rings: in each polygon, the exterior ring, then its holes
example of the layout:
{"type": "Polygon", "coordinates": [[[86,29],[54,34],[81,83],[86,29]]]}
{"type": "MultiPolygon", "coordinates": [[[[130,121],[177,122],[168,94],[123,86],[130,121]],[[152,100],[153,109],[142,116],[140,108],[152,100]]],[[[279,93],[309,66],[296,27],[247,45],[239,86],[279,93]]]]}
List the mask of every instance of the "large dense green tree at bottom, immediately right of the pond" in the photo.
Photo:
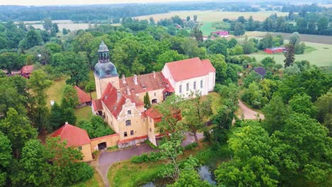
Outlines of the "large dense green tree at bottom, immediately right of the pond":
{"type": "Polygon", "coordinates": [[[216,180],[224,186],[277,186],[280,172],[271,161],[272,141],[256,121],[246,121],[228,141],[234,152],[231,161],[216,169],[216,180]]]}

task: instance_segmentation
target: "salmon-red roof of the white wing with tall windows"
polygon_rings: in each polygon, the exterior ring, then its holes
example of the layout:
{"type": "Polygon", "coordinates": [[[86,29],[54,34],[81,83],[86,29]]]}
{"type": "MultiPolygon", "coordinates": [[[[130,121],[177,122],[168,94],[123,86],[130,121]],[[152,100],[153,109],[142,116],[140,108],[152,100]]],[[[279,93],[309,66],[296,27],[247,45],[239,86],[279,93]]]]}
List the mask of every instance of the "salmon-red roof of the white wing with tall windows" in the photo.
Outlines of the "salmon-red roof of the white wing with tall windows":
{"type": "Polygon", "coordinates": [[[170,74],[175,81],[192,79],[209,74],[209,72],[216,72],[209,60],[199,60],[199,57],[169,62],[165,66],[170,69],[170,74]]]}

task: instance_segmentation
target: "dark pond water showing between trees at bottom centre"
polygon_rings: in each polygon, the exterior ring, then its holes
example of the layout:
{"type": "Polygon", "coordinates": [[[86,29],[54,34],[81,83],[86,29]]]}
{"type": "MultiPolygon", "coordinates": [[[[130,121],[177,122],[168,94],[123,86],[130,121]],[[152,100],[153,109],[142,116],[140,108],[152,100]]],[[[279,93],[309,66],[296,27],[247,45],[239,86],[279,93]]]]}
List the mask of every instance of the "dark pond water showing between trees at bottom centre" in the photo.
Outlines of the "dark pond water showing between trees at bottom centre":
{"type": "MultiPolygon", "coordinates": [[[[201,179],[208,181],[212,185],[216,185],[216,181],[214,181],[214,174],[211,173],[209,166],[203,165],[198,168],[199,176],[201,176],[201,179]]],[[[170,181],[167,181],[165,179],[160,179],[155,182],[145,183],[145,185],[141,187],[163,187],[167,184],[170,184],[170,181]]]]}

